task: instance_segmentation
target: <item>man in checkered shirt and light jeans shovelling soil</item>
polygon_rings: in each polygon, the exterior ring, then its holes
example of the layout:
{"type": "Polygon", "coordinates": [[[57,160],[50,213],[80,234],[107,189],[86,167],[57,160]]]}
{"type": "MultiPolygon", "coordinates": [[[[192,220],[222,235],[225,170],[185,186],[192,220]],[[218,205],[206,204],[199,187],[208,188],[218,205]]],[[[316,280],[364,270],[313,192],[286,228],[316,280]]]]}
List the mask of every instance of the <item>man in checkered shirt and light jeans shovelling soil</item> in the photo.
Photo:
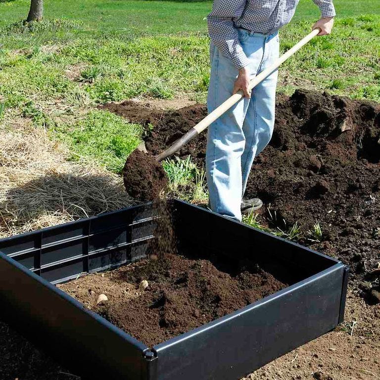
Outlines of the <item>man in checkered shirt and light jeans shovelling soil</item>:
{"type": "MultiPolygon", "coordinates": [[[[319,36],[331,33],[332,0],[313,0],[321,19],[319,36]]],[[[258,198],[242,202],[253,159],[268,144],[275,122],[277,70],[257,85],[250,80],[279,57],[278,30],[292,18],[298,0],[214,0],[207,17],[211,37],[211,75],[207,98],[213,111],[242,90],[244,98],[208,128],[206,173],[210,207],[241,220],[261,207],[258,198]]]]}

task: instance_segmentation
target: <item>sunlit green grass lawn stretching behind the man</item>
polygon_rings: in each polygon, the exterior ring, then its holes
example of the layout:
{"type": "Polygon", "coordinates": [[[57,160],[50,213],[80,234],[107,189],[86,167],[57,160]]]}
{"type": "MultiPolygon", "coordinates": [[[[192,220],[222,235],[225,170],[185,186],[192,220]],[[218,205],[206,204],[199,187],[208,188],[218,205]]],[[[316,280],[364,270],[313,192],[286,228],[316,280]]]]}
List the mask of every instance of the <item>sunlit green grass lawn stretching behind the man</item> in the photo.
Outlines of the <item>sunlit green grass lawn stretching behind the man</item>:
{"type": "MultiPolygon", "coordinates": [[[[380,101],[380,8],[336,0],[332,36],[317,38],[282,67],[279,92],[327,90],[380,101]]],[[[210,1],[46,0],[45,21],[19,22],[28,0],[0,1],[0,125],[24,117],[64,141],[71,158],[120,171],[143,131],[98,103],[135,97],[204,102],[209,81],[210,1]],[[112,131],[112,132],[110,132],[112,131]]],[[[281,32],[283,51],[318,18],[301,0],[281,32]]]]}

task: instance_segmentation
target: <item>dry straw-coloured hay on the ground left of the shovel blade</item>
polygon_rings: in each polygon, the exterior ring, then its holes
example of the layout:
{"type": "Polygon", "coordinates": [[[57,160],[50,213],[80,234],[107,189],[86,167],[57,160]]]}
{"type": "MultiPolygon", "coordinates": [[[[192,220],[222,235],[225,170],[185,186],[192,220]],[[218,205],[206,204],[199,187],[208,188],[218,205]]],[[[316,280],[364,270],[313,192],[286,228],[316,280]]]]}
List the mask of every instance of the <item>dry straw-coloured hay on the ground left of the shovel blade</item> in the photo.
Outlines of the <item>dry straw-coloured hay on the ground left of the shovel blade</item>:
{"type": "Polygon", "coordinates": [[[134,203],[121,177],[67,155],[43,129],[0,132],[1,238],[134,203]]]}

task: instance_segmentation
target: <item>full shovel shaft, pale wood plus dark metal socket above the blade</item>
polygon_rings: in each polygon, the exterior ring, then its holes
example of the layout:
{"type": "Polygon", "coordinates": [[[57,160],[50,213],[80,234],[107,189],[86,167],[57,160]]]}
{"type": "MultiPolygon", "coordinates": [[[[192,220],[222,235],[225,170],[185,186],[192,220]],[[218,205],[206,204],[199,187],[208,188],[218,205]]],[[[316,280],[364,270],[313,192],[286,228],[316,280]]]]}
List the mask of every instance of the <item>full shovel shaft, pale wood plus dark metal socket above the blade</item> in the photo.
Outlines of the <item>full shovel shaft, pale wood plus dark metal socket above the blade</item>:
{"type": "MultiPolygon", "coordinates": [[[[314,29],[311,31],[306,37],[304,37],[301,41],[295,44],[292,48],[287,50],[281,57],[279,57],[272,65],[263,70],[260,74],[255,76],[249,83],[249,90],[252,90],[255,86],[257,86],[260,82],[262,82],[265,78],[267,78],[270,74],[272,74],[277,68],[286,61],[289,57],[291,57],[296,51],[298,51],[301,47],[306,45],[310,40],[312,40],[315,36],[320,33],[320,29],[314,29]]],[[[213,123],[216,119],[222,116],[227,110],[229,110],[235,103],[237,103],[243,97],[243,92],[240,90],[238,93],[229,97],[226,101],[224,101],[219,107],[215,108],[211,113],[209,113],[204,119],[202,119],[198,124],[190,129],[190,131],[184,135],[182,138],[177,140],[172,146],[170,146],[167,150],[158,154],[155,159],[157,161],[161,161],[166,157],[171,156],[177,150],[181,149],[187,142],[192,140],[195,136],[199,135],[202,131],[204,131],[211,123],[213,123]]]]}

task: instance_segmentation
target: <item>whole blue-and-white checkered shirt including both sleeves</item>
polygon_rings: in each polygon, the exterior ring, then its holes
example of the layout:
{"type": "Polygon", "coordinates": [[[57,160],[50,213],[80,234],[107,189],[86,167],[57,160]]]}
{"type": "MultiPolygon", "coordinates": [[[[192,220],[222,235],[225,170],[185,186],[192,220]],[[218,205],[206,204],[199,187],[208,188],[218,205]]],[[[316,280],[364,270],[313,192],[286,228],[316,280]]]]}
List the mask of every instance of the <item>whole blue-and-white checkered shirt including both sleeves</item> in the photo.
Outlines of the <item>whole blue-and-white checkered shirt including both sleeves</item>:
{"type": "MultiPolygon", "coordinates": [[[[294,15],[299,0],[214,0],[207,16],[211,41],[234,63],[237,69],[248,64],[239,43],[242,27],[256,33],[271,34],[286,25],[294,15]]],[[[322,17],[335,16],[332,0],[313,0],[322,17]]]]}

